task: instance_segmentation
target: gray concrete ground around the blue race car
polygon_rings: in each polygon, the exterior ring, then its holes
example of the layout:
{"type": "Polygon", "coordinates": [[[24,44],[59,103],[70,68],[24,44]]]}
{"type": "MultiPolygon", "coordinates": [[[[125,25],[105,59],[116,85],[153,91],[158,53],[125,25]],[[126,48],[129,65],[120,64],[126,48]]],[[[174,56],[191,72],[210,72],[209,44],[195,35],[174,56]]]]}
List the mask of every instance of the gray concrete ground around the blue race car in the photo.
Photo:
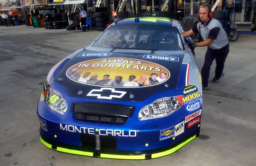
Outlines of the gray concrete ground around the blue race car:
{"type": "MultiPolygon", "coordinates": [[[[230,42],[224,77],[203,93],[201,133],[172,155],[112,160],[55,152],[39,140],[37,104],[48,71],[101,32],[0,26],[0,166],[255,166],[256,37],[230,42]]],[[[206,47],[196,48],[199,68],[206,47]]]]}

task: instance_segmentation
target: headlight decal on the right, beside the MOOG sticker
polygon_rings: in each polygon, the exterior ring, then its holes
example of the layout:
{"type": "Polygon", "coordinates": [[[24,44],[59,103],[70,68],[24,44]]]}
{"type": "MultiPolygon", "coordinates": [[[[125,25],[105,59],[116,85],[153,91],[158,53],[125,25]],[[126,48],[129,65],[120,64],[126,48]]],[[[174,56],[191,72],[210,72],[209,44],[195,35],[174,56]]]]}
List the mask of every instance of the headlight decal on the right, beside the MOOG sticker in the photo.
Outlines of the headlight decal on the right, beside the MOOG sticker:
{"type": "Polygon", "coordinates": [[[184,96],[173,96],[159,98],[140,110],[139,119],[143,121],[168,116],[183,106],[182,102],[180,101],[180,98],[183,97],[184,96]]]}

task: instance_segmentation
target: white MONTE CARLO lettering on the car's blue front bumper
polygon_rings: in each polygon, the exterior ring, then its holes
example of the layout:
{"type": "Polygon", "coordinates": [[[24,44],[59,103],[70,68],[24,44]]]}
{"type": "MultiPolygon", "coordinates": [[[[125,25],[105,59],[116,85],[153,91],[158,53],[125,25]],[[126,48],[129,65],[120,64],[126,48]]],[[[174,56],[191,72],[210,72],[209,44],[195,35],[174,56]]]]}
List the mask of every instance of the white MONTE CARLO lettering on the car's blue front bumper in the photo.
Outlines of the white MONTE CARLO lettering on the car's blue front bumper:
{"type": "Polygon", "coordinates": [[[81,127],[74,126],[69,124],[60,124],[61,131],[67,132],[79,132],[83,134],[92,134],[92,135],[110,135],[110,136],[119,136],[119,137],[136,137],[137,130],[121,130],[121,129],[96,129],[92,127],[81,127]]]}

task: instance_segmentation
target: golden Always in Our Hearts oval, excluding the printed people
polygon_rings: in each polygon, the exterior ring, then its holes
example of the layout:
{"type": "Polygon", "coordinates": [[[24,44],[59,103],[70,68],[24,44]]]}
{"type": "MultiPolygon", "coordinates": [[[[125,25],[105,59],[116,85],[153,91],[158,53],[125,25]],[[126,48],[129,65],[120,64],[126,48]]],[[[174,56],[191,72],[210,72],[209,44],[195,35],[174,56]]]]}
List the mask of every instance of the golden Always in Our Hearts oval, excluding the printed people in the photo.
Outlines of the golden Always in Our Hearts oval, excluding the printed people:
{"type": "MultiPolygon", "coordinates": [[[[157,73],[158,75],[160,73],[166,73],[166,80],[168,80],[170,77],[169,70],[167,70],[162,65],[158,65],[157,63],[148,62],[141,59],[118,57],[106,57],[79,62],[75,65],[70,66],[70,68],[67,69],[66,76],[74,82],[99,86],[98,84],[96,84],[96,81],[102,80],[105,75],[110,75],[108,78],[110,80],[115,80],[116,76],[121,76],[122,82],[125,82],[129,79],[129,76],[131,75],[134,75],[136,77],[136,79],[134,79],[134,81],[136,81],[141,76],[151,76],[151,73],[157,73]]],[[[163,82],[159,82],[157,84],[162,84],[163,82]]],[[[122,86],[125,87],[126,85],[120,85],[120,87],[122,86]]],[[[137,87],[139,86],[137,85],[137,87]]]]}

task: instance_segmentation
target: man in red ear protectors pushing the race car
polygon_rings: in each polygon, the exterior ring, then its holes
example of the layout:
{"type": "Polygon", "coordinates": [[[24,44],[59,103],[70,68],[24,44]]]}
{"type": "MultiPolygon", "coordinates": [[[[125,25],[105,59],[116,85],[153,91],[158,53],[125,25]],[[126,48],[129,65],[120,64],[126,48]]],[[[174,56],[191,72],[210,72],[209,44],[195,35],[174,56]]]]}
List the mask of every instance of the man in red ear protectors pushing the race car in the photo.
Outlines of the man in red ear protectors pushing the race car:
{"type": "Polygon", "coordinates": [[[207,46],[207,51],[204,57],[204,65],[201,70],[202,76],[202,91],[208,88],[208,79],[210,74],[210,67],[213,60],[216,61],[215,77],[212,82],[219,82],[224,76],[224,63],[229,53],[229,39],[223,29],[221,23],[212,18],[212,7],[208,3],[204,3],[199,8],[198,17],[200,22],[195,24],[192,29],[182,33],[183,37],[189,37],[195,33],[200,33],[204,41],[192,43],[190,46],[203,47],[207,46]]]}

